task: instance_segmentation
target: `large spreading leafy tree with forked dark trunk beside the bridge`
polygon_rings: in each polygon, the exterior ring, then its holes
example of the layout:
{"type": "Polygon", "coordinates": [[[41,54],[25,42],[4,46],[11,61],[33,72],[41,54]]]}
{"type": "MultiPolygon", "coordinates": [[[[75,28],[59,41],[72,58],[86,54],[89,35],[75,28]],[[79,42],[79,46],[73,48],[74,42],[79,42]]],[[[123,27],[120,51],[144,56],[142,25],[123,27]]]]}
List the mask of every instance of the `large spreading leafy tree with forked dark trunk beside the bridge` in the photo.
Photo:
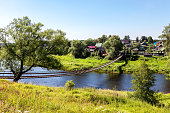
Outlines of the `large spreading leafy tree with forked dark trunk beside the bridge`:
{"type": "Polygon", "coordinates": [[[13,73],[14,82],[34,66],[61,67],[50,54],[54,51],[60,53],[65,47],[65,33],[52,29],[42,31],[42,27],[43,24],[32,23],[28,17],[23,17],[0,29],[0,40],[4,43],[1,60],[13,73]]]}

